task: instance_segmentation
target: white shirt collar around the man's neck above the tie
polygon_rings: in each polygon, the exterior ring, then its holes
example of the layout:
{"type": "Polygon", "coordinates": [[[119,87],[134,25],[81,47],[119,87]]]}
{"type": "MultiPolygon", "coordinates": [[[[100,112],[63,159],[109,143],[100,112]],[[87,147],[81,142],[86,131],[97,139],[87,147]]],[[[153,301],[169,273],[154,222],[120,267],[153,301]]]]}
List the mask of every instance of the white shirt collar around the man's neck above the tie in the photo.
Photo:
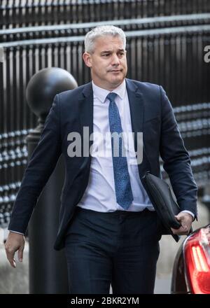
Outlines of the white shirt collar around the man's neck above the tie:
{"type": "MultiPolygon", "coordinates": [[[[92,90],[93,90],[94,97],[97,97],[97,99],[99,99],[99,101],[102,103],[105,102],[107,95],[110,93],[110,91],[105,90],[102,87],[98,87],[97,85],[95,85],[93,81],[92,81],[92,90]]],[[[123,80],[123,83],[121,83],[118,87],[116,87],[115,90],[111,92],[115,92],[116,94],[118,94],[120,99],[124,99],[125,92],[126,92],[125,79],[123,80]]]]}

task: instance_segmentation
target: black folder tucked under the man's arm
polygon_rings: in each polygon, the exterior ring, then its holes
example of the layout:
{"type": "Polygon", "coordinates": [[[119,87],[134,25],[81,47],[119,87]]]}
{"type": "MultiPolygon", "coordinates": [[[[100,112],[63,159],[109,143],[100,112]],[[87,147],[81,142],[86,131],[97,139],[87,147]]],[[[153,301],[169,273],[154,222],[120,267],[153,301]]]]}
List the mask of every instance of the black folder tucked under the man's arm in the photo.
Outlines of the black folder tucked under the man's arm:
{"type": "Polygon", "coordinates": [[[181,209],[176,200],[174,200],[170,186],[166,181],[158,178],[158,176],[154,176],[150,172],[146,172],[142,179],[145,183],[148,197],[150,197],[162,225],[167,230],[165,234],[172,235],[175,241],[179,241],[180,236],[174,235],[171,228],[179,229],[181,227],[179,221],[174,217],[179,214],[181,209]]]}

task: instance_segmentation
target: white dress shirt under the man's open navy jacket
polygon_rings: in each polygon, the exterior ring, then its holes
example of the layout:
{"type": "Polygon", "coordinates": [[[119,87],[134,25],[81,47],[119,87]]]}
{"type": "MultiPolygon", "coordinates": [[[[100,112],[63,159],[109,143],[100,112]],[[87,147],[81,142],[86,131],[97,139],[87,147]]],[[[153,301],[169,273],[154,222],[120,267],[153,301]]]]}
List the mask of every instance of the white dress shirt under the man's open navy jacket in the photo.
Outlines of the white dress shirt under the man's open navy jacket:
{"type": "MultiPolygon", "coordinates": [[[[94,152],[90,165],[90,177],[85,193],[77,204],[83,209],[92,209],[93,211],[143,211],[146,207],[154,210],[151,201],[148,198],[146,190],[142,186],[139,178],[137,158],[134,153],[134,141],[131,138],[129,148],[126,146],[127,167],[130,174],[130,182],[134,200],[129,209],[125,210],[116,202],[115,183],[113,176],[113,161],[111,152],[111,135],[109,127],[109,94],[92,82],[93,88],[93,146],[94,149],[106,149],[106,155],[102,152],[94,152]],[[106,136],[104,140],[100,136],[106,136]],[[136,162],[134,162],[134,160],[136,162]]],[[[132,132],[130,105],[127,97],[125,80],[113,92],[117,95],[116,104],[119,109],[121,125],[123,132],[132,132]]]]}

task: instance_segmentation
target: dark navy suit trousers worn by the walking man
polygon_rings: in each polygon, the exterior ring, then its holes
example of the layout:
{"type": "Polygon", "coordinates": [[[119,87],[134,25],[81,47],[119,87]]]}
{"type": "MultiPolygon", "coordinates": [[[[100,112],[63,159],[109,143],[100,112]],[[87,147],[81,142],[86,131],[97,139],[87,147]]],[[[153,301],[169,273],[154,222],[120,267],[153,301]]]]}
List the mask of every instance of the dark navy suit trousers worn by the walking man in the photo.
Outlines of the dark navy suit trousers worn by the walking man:
{"type": "Polygon", "coordinates": [[[160,253],[155,211],[76,207],[65,253],[72,294],[152,294],[160,253]]]}

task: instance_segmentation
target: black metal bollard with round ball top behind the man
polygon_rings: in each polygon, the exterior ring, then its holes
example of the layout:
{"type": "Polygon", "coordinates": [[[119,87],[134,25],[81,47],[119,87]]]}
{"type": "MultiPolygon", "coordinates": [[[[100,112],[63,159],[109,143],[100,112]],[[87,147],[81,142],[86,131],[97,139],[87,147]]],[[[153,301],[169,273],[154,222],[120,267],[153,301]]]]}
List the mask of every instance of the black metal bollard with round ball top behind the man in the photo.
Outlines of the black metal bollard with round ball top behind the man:
{"type": "MultiPolygon", "coordinates": [[[[70,73],[57,67],[42,69],[32,76],[27,85],[27,102],[38,116],[38,127],[27,136],[29,158],[38,144],[55,95],[77,86],[70,73]]],[[[63,181],[64,162],[61,156],[29,223],[29,293],[32,294],[69,293],[64,251],[53,249],[63,181]]]]}

